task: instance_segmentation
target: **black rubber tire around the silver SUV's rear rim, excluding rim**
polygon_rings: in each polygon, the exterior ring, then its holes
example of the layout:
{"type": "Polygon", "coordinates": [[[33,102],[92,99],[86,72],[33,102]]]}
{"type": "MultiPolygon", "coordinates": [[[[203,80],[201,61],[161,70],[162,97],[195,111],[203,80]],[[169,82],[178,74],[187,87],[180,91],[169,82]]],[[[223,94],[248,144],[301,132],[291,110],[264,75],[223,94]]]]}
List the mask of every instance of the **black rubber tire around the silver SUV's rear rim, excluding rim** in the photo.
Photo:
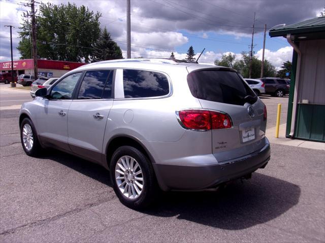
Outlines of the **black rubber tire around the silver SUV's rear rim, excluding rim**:
{"type": "Polygon", "coordinates": [[[150,204],[151,199],[153,198],[154,180],[155,180],[155,177],[152,174],[153,174],[153,169],[149,159],[138,149],[131,146],[122,146],[116,149],[116,151],[113,153],[111,163],[110,163],[111,184],[113,186],[115,194],[117,195],[121,203],[124,204],[126,207],[139,210],[146,207],[148,204],[150,204]],[[139,164],[142,170],[144,186],[141,195],[136,199],[126,198],[119,190],[115,180],[116,163],[119,158],[125,155],[131,156],[134,159],[136,159],[137,163],[139,164]]]}

